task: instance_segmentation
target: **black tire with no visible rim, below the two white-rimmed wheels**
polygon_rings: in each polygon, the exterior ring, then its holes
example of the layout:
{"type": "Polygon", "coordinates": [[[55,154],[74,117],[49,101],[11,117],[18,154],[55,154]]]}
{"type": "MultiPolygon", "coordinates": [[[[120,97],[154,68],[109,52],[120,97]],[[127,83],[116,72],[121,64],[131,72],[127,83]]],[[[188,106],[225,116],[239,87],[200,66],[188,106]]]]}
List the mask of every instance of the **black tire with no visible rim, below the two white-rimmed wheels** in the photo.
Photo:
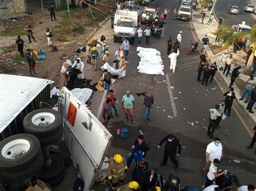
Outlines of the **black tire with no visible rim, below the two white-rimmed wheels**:
{"type": "Polygon", "coordinates": [[[51,186],[56,186],[64,179],[65,161],[60,154],[52,154],[51,159],[51,167],[43,168],[38,175],[38,179],[48,182],[51,186]]]}

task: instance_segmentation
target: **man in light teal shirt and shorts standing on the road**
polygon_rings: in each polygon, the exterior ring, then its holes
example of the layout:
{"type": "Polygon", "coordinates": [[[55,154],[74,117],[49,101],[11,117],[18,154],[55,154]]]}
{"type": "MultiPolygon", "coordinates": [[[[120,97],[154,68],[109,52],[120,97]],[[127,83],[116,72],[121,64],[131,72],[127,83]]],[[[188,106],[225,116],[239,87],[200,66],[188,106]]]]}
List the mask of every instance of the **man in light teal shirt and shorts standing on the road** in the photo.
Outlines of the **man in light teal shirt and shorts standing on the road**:
{"type": "Polygon", "coordinates": [[[128,120],[128,115],[130,116],[130,122],[134,124],[133,121],[133,110],[135,109],[135,102],[133,95],[130,95],[130,91],[127,90],[126,94],[122,98],[122,109],[125,113],[125,121],[128,120]]]}

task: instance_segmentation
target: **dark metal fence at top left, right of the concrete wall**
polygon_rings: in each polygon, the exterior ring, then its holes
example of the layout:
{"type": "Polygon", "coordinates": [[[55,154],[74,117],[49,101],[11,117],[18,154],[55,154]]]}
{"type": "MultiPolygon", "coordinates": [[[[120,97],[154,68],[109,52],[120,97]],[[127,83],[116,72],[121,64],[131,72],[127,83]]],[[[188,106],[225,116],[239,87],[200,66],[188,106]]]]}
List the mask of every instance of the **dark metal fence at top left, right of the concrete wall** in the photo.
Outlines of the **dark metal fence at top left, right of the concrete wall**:
{"type": "Polygon", "coordinates": [[[60,0],[25,0],[24,2],[26,12],[41,12],[51,5],[55,5],[56,8],[60,6],[60,0]]]}

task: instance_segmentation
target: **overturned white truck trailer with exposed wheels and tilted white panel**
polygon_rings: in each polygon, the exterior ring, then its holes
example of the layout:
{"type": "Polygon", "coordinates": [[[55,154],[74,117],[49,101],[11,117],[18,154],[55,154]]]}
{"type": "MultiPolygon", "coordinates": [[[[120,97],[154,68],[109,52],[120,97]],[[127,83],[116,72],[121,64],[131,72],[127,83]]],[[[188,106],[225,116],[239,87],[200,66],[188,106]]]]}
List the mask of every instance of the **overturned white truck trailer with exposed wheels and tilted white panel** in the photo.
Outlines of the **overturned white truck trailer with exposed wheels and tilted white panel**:
{"type": "Polygon", "coordinates": [[[56,98],[58,111],[47,107],[52,83],[0,74],[0,190],[5,190],[5,182],[11,190],[32,186],[33,177],[52,186],[60,183],[65,175],[64,159],[49,152],[49,146],[59,139],[68,147],[84,189],[93,187],[112,135],[65,87],[56,98]]]}

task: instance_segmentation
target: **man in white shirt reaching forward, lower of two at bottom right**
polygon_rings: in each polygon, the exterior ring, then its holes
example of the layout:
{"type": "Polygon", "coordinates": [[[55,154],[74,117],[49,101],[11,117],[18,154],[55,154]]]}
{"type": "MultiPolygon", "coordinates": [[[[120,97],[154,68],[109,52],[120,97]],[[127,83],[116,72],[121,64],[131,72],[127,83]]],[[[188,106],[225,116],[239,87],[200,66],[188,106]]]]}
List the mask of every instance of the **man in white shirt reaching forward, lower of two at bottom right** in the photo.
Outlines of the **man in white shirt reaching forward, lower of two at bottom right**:
{"type": "Polygon", "coordinates": [[[218,173],[217,168],[218,168],[219,164],[220,164],[219,159],[214,159],[213,162],[211,163],[209,172],[207,173],[207,176],[206,176],[206,181],[205,181],[204,188],[207,188],[208,186],[211,186],[215,177],[217,178],[218,176],[221,176],[221,175],[227,173],[227,170],[224,170],[223,172],[218,173]]]}

